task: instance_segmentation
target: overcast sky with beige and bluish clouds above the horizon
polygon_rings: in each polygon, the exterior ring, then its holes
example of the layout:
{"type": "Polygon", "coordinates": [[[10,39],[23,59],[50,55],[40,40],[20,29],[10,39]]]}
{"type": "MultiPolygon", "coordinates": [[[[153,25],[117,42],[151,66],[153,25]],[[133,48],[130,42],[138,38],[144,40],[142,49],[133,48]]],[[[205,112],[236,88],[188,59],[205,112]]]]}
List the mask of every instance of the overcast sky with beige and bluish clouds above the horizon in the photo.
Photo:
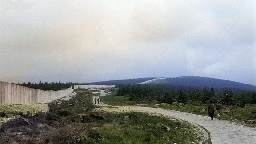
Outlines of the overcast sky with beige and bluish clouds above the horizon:
{"type": "Polygon", "coordinates": [[[256,85],[255,0],[1,0],[0,80],[256,85]]]}

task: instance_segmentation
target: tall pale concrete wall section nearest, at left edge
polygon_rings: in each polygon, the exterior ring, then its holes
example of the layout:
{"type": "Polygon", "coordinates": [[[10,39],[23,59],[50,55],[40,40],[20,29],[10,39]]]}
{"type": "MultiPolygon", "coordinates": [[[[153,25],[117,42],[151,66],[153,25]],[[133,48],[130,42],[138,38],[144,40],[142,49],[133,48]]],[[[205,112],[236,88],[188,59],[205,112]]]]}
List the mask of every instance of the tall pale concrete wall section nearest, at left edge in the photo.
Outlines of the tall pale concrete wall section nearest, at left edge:
{"type": "Polygon", "coordinates": [[[0,81],[0,104],[49,103],[72,92],[72,87],[59,91],[44,91],[0,81]]]}

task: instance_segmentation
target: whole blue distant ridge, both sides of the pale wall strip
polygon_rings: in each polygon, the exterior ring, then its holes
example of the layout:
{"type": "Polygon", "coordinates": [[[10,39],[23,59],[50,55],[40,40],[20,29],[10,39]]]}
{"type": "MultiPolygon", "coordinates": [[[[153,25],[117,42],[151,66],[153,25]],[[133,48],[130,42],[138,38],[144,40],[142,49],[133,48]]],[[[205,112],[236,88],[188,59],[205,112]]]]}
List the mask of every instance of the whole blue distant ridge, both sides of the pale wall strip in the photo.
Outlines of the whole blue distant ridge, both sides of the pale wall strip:
{"type": "Polygon", "coordinates": [[[159,77],[148,77],[138,79],[124,79],[124,80],[110,80],[103,82],[95,82],[89,84],[104,84],[104,85],[115,85],[115,84],[137,84],[145,81],[152,80],[147,84],[167,84],[173,86],[192,86],[196,88],[233,88],[241,90],[256,90],[256,86],[250,84],[243,84],[230,80],[221,80],[208,77],[200,76],[182,76],[176,78],[159,78],[159,77]],[[156,79],[156,80],[153,80],[156,79]]]}

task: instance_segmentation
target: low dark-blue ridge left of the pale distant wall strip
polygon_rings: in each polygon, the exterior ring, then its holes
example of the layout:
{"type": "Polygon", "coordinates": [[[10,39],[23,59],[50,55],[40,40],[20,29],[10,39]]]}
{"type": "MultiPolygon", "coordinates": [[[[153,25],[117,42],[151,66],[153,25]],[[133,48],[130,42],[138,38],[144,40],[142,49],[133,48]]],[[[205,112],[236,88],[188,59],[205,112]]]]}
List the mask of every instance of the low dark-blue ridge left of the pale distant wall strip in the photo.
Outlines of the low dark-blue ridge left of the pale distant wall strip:
{"type": "Polygon", "coordinates": [[[116,85],[116,84],[138,84],[148,80],[156,79],[156,77],[147,77],[147,78],[137,78],[137,79],[124,79],[124,80],[109,80],[109,81],[100,81],[93,82],[88,84],[100,84],[100,85],[116,85]]]}

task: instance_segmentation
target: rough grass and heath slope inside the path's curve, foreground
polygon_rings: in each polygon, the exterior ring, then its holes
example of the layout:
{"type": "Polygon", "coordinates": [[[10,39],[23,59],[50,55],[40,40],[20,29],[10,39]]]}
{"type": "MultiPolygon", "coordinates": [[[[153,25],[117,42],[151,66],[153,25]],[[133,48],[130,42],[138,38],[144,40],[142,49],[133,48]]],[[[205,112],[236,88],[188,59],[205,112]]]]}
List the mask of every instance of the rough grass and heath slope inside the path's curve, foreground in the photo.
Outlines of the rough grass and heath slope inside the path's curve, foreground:
{"type": "MultiPolygon", "coordinates": [[[[210,143],[200,130],[184,121],[169,120],[143,113],[120,113],[92,111],[92,93],[78,92],[76,97],[63,100],[61,104],[49,104],[49,112],[24,115],[31,125],[20,126],[18,120],[3,124],[0,133],[3,143],[69,143],[69,144],[156,144],[156,143],[210,143]],[[88,114],[104,116],[106,120],[84,117],[88,114]],[[137,115],[138,118],[124,118],[137,115]],[[83,120],[84,122],[81,122],[83,120]],[[168,126],[169,131],[163,126],[168,126]]],[[[124,101],[124,100],[122,100],[124,101]]],[[[27,109],[28,110],[28,109],[27,109]]]]}

